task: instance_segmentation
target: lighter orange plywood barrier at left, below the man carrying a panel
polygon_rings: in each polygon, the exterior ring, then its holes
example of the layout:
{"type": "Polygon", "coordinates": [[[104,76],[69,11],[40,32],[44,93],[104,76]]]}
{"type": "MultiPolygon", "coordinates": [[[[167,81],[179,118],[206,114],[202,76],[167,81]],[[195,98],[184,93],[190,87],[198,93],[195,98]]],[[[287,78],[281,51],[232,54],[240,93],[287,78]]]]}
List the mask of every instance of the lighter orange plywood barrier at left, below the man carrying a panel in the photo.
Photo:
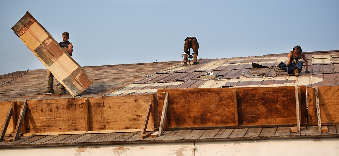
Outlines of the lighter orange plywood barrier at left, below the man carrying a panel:
{"type": "MultiPolygon", "coordinates": [[[[87,103],[86,98],[27,100],[22,132],[48,135],[141,131],[151,96],[96,97],[87,98],[87,103]]],[[[21,105],[22,102],[18,103],[21,105]]],[[[0,102],[0,109],[4,109],[0,116],[5,116],[3,113],[8,111],[10,104],[0,102]]],[[[154,112],[152,109],[148,131],[154,130],[154,112]]],[[[3,122],[1,117],[0,122],[3,122]]]]}

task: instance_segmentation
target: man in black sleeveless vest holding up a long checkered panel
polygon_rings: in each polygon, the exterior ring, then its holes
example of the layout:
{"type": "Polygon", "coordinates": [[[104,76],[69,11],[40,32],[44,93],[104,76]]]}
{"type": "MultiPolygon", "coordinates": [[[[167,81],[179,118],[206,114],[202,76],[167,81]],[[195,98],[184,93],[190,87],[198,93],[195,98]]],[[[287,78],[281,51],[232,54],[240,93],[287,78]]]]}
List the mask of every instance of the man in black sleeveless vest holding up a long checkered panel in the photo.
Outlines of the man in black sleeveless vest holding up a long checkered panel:
{"type": "MultiPolygon", "coordinates": [[[[66,50],[66,52],[72,56],[73,53],[73,45],[71,42],[68,42],[69,39],[69,33],[68,32],[63,32],[62,34],[62,41],[59,43],[59,46],[63,49],[66,50]]],[[[43,93],[54,93],[53,90],[53,74],[49,71],[47,71],[47,77],[48,77],[48,82],[47,82],[47,90],[45,90],[43,93]]],[[[61,90],[59,92],[59,95],[66,94],[66,89],[65,87],[60,84],[61,90]]]]}

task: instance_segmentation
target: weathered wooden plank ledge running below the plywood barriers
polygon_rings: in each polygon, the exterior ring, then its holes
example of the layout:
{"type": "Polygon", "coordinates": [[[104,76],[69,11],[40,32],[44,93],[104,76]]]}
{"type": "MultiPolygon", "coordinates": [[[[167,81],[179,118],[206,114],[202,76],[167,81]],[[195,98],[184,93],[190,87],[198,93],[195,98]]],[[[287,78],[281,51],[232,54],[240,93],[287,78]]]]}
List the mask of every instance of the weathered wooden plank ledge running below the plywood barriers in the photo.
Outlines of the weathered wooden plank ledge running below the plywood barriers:
{"type": "Polygon", "coordinates": [[[13,142],[1,141],[0,148],[325,137],[339,137],[339,125],[328,126],[328,132],[319,132],[318,126],[301,127],[296,133],[291,127],[173,130],[144,139],[140,132],[22,136],[13,142]]]}

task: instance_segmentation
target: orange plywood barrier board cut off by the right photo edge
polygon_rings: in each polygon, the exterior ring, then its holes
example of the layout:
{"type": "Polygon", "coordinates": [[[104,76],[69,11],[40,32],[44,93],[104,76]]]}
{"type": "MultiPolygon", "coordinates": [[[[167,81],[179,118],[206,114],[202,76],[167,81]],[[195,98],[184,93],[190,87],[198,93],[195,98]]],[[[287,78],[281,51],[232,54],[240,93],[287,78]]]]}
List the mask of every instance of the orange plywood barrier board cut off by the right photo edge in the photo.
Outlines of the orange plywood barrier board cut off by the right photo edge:
{"type": "MultiPolygon", "coordinates": [[[[314,87],[307,87],[308,123],[318,125],[314,87]]],[[[319,86],[319,106],[322,125],[339,125],[339,86],[319,86]]]]}

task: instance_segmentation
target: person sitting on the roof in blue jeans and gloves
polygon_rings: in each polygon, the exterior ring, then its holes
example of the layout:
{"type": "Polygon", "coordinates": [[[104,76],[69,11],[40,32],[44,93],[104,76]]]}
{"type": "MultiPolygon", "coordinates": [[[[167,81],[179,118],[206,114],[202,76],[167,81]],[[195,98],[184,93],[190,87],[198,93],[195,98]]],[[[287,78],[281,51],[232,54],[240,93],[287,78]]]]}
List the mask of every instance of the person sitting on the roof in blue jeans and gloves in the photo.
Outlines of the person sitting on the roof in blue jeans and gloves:
{"type": "Polygon", "coordinates": [[[287,64],[279,63],[279,67],[285,72],[299,76],[302,70],[303,61],[306,63],[305,73],[308,74],[308,61],[304,53],[301,52],[300,46],[295,46],[292,51],[288,53],[287,64]],[[302,58],[302,59],[301,59],[302,58]]]}

